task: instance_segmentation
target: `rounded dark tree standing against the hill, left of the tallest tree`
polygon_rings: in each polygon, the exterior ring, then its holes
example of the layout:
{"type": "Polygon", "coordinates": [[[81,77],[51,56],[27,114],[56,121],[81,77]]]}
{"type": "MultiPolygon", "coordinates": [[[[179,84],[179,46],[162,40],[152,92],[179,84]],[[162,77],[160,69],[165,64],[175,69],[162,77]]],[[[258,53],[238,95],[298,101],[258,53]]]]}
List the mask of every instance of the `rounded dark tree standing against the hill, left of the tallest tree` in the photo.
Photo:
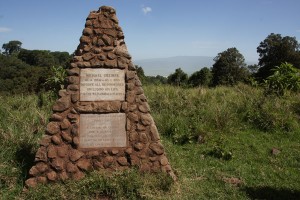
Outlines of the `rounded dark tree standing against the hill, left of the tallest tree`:
{"type": "Polygon", "coordinates": [[[249,76],[244,56],[235,48],[229,48],[214,58],[212,84],[235,85],[249,76]]]}

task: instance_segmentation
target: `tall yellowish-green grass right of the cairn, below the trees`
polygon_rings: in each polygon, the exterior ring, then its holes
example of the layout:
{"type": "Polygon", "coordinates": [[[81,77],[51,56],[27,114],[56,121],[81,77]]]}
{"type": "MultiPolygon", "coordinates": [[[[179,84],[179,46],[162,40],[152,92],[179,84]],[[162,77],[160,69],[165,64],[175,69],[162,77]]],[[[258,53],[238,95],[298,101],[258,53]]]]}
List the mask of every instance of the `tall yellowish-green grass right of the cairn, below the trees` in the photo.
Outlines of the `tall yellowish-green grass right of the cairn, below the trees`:
{"type": "Polygon", "coordinates": [[[299,94],[265,96],[261,89],[247,85],[212,89],[150,85],[145,90],[161,134],[175,143],[253,128],[299,130],[299,94]]]}

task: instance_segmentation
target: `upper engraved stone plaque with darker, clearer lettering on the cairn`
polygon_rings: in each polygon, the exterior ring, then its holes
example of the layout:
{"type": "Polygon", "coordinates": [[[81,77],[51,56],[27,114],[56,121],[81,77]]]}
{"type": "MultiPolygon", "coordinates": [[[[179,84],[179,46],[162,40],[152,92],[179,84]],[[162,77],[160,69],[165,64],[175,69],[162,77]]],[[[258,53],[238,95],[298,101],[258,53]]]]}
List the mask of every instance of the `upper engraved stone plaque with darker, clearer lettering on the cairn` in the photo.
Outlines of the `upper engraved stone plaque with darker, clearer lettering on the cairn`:
{"type": "Polygon", "coordinates": [[[80,101],[124,101],[125,72],[119,69],[81,69],[80,101]]]}

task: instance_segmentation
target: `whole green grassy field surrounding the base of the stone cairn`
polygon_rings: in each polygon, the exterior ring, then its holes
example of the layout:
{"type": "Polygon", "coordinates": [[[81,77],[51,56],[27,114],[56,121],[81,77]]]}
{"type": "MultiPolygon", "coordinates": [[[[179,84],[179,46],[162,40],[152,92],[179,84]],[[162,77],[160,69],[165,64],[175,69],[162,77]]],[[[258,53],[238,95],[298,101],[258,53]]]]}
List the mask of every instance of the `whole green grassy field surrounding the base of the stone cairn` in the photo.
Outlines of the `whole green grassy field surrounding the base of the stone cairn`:
{"type": "Polygon", "coordinates": [[[177,182],[132,169],[24,193],[54,98],[0,96],[0,199],[300,199],[300,94],[265,96],[246,85],[144,90],[177,182]]]}

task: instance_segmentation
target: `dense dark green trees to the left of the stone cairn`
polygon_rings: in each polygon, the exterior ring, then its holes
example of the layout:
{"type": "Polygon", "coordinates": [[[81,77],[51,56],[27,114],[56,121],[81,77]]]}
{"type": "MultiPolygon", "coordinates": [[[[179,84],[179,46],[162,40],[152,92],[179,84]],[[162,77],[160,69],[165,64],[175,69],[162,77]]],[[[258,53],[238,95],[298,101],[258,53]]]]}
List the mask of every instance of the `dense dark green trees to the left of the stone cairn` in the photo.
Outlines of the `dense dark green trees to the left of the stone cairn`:
{"type": "Polygon", "coordinates": [[[39,93],[52,90],[47,82],[58,67],[66,69],[71,55],[68,52],[28,50],[22,42],[9,41],[2,45],[0,53],[0,92],[39,93]]]}

